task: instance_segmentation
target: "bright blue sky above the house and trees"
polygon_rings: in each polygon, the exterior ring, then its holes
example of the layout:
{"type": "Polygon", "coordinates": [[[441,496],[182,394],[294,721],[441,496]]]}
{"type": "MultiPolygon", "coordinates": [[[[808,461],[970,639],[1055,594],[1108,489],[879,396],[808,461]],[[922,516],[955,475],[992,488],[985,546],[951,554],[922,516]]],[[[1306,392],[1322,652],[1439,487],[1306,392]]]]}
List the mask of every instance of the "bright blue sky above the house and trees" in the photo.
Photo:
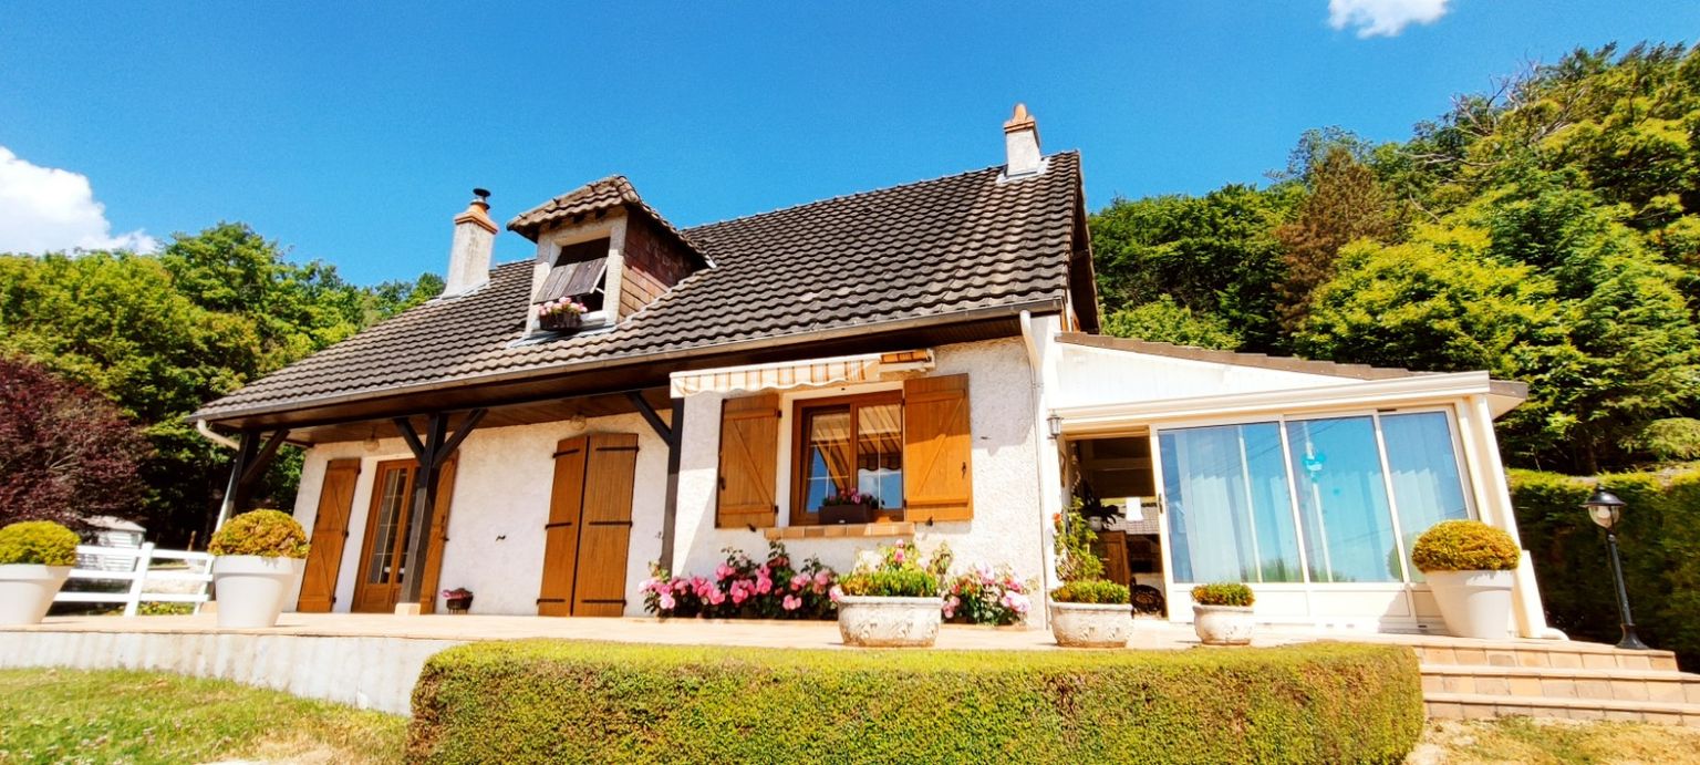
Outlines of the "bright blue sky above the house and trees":
{"type": "Polygon", "coordinates": [[[626,173],[688,226],[1001,163],[1017,100],[1046,151],[1085,153],[1096,209],[1697,29],[1693,0],[10,3],[0,250],[231,219],[357,282],[411,277],[442,270],[473,185],[507,219],[626,173]]]}

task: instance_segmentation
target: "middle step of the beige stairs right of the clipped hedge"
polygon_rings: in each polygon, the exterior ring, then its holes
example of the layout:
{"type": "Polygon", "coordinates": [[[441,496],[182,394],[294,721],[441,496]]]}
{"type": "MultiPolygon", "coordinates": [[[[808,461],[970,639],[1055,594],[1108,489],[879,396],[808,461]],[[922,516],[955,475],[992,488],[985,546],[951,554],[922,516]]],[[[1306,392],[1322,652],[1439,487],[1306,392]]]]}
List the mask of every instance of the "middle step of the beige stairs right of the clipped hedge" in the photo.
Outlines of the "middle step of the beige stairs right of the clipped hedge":
{"type": "Polygon", "coordinates": [[[1673,670],[1423,665],[1423,694],[1700,704],[1700,675],[1673,670]]]}

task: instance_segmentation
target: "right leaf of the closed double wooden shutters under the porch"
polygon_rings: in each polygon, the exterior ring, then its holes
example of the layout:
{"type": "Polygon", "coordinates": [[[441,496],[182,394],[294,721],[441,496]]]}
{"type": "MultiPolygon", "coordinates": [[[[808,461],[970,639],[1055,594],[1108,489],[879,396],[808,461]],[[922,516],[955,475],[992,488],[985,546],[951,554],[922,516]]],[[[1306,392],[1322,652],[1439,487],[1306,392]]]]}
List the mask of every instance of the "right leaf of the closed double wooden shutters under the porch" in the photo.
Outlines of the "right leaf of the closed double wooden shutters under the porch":
{"type": "Polygon", "coordinates": [[[615,617],[626,612],[626,552],[632,536],[638,437],[597,434],[588,442],[573,615],[615,617]]]}

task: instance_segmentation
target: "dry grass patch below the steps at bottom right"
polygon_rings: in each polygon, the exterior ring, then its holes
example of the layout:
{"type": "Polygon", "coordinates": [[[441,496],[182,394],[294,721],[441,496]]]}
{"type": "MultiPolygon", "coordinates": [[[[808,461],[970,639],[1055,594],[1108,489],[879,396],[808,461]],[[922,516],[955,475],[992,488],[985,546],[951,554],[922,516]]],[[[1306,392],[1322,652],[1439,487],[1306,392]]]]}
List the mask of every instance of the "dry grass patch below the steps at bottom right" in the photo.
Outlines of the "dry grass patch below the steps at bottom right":
{"type": "Polygon", "coordinates": [[[1503,717],[1430,721],[1408,765],[1697,763],[1700,729],[1503,717]]]}

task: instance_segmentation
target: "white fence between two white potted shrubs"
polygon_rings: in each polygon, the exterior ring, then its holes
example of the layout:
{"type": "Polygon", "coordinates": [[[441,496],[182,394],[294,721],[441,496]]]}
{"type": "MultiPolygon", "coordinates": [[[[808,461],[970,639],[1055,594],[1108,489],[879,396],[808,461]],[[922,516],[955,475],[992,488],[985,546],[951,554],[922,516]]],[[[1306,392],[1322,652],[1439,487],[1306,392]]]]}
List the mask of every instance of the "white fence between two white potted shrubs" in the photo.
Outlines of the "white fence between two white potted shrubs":
{"type": "Polygon", "coordinates": [[[129,590],[60,590],[60,595],[53,598],[54,604],[124,604],[124,615],[136,615],[144,602],[196,604],[196,612],[199,612],[201,604],[207,602],[207,585],[212,581],[212,554],[155,549],[153,542],[144,542],[141,547],[78,544],[76,568],[71,570],[71,578],[129,581],[129,590]],[[121,564],[114,564],[114,561],[121,564]]]}

